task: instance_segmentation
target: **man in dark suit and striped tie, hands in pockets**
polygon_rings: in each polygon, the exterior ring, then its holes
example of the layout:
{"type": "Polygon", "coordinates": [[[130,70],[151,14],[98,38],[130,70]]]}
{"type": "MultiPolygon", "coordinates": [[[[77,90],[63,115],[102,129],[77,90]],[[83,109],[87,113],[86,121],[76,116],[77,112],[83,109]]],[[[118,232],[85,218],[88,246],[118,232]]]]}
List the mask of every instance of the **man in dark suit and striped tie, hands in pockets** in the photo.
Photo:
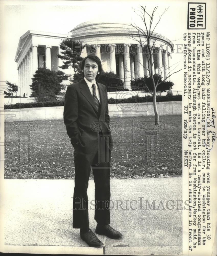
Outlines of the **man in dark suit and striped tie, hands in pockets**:
{"type": "Polygon", "coordinates": [[[99,247],[103,243],[89,228],[87,187],[91,167],[95,183],[95,231],[113,239],[122,234],[109,225],[112,138],[107,90],[96,82],[102,71],[101,61],[88,55],[81,68],[84,79],[67,87],[64,103],[64,123],[74,147],[73,228],[80,228],[80,236],[89,246],[99,247]]]}

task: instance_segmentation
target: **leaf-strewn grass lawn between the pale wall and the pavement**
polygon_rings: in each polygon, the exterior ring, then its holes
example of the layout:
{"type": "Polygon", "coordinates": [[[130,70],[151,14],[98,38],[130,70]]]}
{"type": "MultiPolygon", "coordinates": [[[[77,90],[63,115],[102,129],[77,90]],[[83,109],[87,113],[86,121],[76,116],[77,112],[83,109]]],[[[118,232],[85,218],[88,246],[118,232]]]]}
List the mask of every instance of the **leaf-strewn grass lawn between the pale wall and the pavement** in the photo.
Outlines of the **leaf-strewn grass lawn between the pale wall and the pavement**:
{"type": "MultiPolygon", "coordinates": [[[[157,163],[151,162],[154,145],[147,145],[144,131],[137,123],[147,122],[153,131],[154,117],[111,118],[119,124],[112,132],[115,142],[111,153],[111,178],[147,178],[182,174],[181,115],[161,116],[165,129],[157,133],[157,163]],[[122,150],[120,142],[132,143],[122,150]],[[143,143],[144,142],[144,143],[143,143]],[[140,145],[137,145],[140,143],[140,145]],[[151,148],[151,146],[153,148],[151,148]]],[[[22,122],[20,122],[22,123],[22,122]]],[[[63,120],[36,121],[38,129],[30,132],[29,162],[18,161],[18,132],[5,125],[6,179],[72,179],[74,149],[67,136],[63,120]]],[[[150,136],[150,135],[149,135],[150,136]]],[[[91,178],[93,178],[91,172],[91,178]]]]}

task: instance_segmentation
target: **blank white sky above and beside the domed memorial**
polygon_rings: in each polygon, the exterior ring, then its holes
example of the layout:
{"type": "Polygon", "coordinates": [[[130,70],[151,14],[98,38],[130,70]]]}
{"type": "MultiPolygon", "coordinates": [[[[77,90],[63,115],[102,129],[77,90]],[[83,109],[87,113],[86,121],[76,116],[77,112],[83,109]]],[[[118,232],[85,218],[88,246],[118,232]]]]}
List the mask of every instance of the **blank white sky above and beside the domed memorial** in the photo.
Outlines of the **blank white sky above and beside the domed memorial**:
{"type": "MultiPolygon", "coordinates": [[[[28,30],[38,30],[67,34],[75,26],[87,21],[136,23],[141,25],[135,11],[144,1],[1,1],[1,81],[17,83],[17,63],[15,54],[19,38],[28,30]]],[[[178,1],[145,1],[147,11],[159,5],[156,18],[166,7],[161,22],[155,29],[170,40],[181,43],[182,31],[177,29],[182,17],[182,6],[178,1]],[[168,3],[168,5],[167,5],[168,3]],[[179,7],[180,5],[180,7],[179,7]],[[179,10],[177,12],[177,10],[179,10]]],[[[173,63],[179,63],[181,54],[172,55],[173,63]]],[[[171,80],[174,90],[181,91],[179,84],[181,72],[171,80]],[[180,74],[179,74],[180,73],[180,74]]]]}

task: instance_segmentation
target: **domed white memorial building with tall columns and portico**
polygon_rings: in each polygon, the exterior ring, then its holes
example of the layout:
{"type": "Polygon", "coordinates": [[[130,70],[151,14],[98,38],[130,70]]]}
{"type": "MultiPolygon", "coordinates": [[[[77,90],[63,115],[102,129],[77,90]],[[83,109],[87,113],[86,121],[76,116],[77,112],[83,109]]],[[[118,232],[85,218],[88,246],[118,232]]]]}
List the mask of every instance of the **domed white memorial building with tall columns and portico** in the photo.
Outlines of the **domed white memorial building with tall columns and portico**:
{"type": "MultiPolygon", "coordinates": [[[[133,79],[149,75],[146,38],[129,24],[84,22],[73,28],[68,34],[56,34],[41,31],[27,31],[20,37],[15,61],[18,70],[18,93],[20,96],[31,95],[30,84],[33,74],[39,67],[61,70],[63,65],[60,54],[60,42],[65,39],[80,41],[85,47],[82,57],[96,54],[106,72],[113,71],[124,82],[124,88],[130,90],[133,79]],[[144,42],[140,46],[140,40],[144,42]]],[[[171,66],[172,42],[161,34],[153,33],[153,73],[167,78],[171,66]]],[[[73,74],[72,69],[62,70],[73,74]]]]}

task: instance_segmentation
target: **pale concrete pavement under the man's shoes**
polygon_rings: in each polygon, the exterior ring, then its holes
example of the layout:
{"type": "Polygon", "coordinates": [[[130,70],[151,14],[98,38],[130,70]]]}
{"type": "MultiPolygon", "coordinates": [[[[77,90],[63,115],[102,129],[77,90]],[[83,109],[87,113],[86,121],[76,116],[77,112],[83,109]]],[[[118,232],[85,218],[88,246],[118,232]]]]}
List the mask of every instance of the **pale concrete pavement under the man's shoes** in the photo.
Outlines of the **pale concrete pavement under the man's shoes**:
{"type": "MultiPolygon", "coordinates": [[[[181,177],[111,179],[111,226],[122,232],[123,238],[112,240],[98,236],[104,248],[91,248],[79,237],[79,229],[72,228],[74,180],[6,179],[1,208],[5,220],[5,248],[2,251],[134,255],[181,253],[182,210],[177,209],[175,201],[182,200],[181,182],[181,177]],[[155,200],[155,209],[153,205],[151,209],[146,207],[145,200],[150,206],[155,200]],[[169,202],[167,207],[168,200],[173,200],[174,204],[169,202]],[[175,205],[173,210],[167,209],[172,205],[175,205]]],[[[88,199],[89,202],[94,200],[93,180],[89,181],[88,199]]],[[[93,208],[89,203],[90,207],[93,208]]],[[[95,231],[94,210],[89,210],[89,221],[90,228],[95,231]]]]}

